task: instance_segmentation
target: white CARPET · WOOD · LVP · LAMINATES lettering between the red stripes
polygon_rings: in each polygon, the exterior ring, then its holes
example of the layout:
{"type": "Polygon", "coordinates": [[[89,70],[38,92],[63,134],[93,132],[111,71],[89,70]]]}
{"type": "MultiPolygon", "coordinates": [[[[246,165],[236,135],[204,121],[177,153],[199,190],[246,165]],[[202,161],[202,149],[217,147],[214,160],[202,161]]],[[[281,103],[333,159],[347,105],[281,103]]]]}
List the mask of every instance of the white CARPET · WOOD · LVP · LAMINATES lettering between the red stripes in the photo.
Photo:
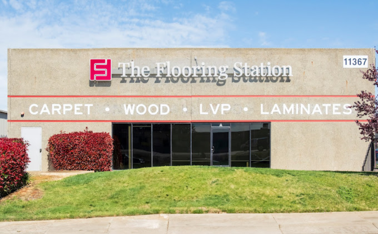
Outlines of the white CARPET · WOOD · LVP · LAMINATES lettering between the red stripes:
{"type": "MultiPolygon", "coordinates": [[[[350,106],[350,104],[345,103],[273,103],[271,105],[261,103],[259,106],[254,106],[254,108],[248,109],[245,107],[243,111],[259,111],[258,114],[261,115],[350,115],[352,114],[350,106]]],[[[93,108],[96,108],[96,106],[88,103],[51,105],[46,103],[40,105],[33,103],[29,106],[29,113],[32,115],[90,115],[93,108]]],[[[127,103],[120,105],[117,109],[122,109],[121,112],[125,115],[167,115],[172,113],[170,105],[163,103],[150,105],[144,103],[127,103]]],[[[210,103],[208,105],[199,103],[195,109],[197,109],[196,112],[199,112],[200,115],[224,115],[233,111],[233,105],[229,103],[210,103]]],[[[107,107],[103,110],[97,109],[97,113],[101,111],[109,112],[110,108],[107,107]]],[[[188,109],[185,107],[180,111],[187,112],[188,109]]],[[[117,112],[117,110],[112,109],[112,112],[117,112]]]]}

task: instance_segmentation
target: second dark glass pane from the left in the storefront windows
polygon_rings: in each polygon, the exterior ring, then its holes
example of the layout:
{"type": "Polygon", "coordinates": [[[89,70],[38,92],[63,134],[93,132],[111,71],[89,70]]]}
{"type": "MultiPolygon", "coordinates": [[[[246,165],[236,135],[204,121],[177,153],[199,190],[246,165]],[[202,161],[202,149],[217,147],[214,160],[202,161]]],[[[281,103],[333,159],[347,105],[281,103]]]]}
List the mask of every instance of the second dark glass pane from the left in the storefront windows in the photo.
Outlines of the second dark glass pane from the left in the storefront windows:
{"type": "Polygon", "coordinates": [[[133,168],[151,167],[151,125],[133,125],[133,168]]]}

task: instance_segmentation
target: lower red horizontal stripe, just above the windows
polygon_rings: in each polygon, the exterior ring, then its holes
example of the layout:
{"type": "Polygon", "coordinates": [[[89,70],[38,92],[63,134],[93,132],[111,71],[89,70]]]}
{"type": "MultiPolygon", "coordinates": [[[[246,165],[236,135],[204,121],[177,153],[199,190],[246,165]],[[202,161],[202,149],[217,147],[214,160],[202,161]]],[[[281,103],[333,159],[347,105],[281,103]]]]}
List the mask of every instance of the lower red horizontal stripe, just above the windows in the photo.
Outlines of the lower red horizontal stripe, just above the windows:
{"type": "MultiPolygon", "coordinates": [[[[235,122],[355,122],[352,119],[304,120],[8,120],[8,122],[119,122],[119,123],[235,123],[235,122]]],[[[367,122],[367,120],[358,120],[367,122]]]]}

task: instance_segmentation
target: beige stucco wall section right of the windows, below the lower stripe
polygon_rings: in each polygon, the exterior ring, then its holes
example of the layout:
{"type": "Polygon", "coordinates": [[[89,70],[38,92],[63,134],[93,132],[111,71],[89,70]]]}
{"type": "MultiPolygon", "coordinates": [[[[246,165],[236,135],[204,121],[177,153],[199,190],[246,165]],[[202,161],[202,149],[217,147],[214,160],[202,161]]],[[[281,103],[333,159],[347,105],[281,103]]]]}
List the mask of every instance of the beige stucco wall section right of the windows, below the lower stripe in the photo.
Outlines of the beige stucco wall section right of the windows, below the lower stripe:
{"type": "Polygon", "coordinates": [[[271,167],[361,171],[369,143],[353,122],[272,123],[271,167]]]}

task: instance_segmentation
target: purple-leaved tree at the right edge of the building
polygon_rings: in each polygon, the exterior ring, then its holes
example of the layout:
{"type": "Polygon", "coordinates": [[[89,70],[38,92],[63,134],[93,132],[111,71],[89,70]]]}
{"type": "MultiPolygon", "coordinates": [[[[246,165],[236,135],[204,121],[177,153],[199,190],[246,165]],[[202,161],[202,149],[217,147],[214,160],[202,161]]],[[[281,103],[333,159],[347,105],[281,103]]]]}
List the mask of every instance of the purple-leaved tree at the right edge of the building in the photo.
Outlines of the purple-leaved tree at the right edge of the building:
{"type": "MultiPolygon", "coordinates": [[[[378,50],[375,50],[378,53],[378,50]]],[[[362,72],[362,78],[374,82],[374,86],[378,87],[378,70],[375,68],[374,64],[370,65],[370,68],[366,72],[362,72]]],[[[375,138],[375,133],[378,132],[378,101],[376,100],[374,94],[365,91],[361,91],[357,96],[361,99],[356,101],[352,108],[357,111],[357,117],[366,118],[367,123],[362,123],[356,120],[358,129],[361,130],[361,139],[365,141],[371,141],[375,138]]]]}

